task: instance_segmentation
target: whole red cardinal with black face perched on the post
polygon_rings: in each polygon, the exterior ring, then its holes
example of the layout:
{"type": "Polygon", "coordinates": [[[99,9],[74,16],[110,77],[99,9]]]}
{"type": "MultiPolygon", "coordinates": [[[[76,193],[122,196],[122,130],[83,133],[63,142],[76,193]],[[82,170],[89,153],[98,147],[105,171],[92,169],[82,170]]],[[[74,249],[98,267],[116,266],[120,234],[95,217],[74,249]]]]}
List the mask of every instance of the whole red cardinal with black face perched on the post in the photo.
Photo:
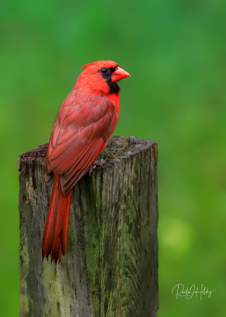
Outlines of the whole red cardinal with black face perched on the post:
{"type": "Polygon", "coordinates": [[[42,260],[57,263],[67,248],[72,187],[105,161],[95,161],[115,130],[119,115],[117,81],[130,76],[114,61],[83,66],[71,93],[62,103],[50,136],[45,181],[53,191],[42,237],[42,260]]]}

